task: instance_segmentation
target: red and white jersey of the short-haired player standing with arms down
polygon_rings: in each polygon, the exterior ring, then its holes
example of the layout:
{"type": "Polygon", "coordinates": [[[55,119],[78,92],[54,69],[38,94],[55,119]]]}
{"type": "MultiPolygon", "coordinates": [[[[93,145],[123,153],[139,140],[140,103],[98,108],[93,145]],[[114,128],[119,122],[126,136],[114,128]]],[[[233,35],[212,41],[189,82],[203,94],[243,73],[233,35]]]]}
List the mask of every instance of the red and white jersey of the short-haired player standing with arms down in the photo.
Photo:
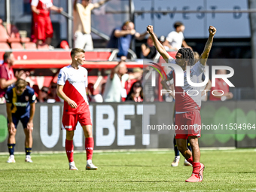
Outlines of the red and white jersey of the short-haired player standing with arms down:
{"type": "Polygon", "coordinates": [[[87,77],[87,69],[81,66],[78,66],[78,69],[71,65],[60,69],[57,84],[63,85],[63,92],[78,105],[77,108],[71,108],[68,102],[64,101],[63,114],[84,113],[84,107],[89,105],[85,89],[88,84],[87,77]]]}

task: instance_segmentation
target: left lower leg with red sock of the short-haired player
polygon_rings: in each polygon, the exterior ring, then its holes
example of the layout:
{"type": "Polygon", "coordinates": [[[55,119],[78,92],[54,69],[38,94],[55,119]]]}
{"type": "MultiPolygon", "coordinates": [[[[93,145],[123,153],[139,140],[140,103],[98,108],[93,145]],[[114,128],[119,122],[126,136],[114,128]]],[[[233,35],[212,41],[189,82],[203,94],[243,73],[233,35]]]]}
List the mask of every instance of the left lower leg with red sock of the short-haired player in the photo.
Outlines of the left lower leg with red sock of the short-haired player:
{"type": "Polygon", "coordinates": [[[73,145],[74,130],[66,130],[66,154],[69,160],[69,170],[78,170],[74,162],[74,145],[73,145]]]}

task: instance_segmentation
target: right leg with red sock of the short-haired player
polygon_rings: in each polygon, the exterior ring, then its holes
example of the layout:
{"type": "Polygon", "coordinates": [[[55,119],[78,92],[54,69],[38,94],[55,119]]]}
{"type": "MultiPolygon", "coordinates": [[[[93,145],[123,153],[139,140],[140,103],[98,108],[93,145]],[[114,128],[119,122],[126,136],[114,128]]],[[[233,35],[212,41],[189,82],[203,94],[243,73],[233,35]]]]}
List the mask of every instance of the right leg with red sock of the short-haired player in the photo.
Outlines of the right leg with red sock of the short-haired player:
{"type": "Polygon", "coordinates": [[[93,165],[93,148],[94,148],[94,140],[93,140],[93,126],[86,125],[82,126],[84,130],[85,136],[85,150],[87,151],[87,170],[96,170],[98,167],[93,165]]]}

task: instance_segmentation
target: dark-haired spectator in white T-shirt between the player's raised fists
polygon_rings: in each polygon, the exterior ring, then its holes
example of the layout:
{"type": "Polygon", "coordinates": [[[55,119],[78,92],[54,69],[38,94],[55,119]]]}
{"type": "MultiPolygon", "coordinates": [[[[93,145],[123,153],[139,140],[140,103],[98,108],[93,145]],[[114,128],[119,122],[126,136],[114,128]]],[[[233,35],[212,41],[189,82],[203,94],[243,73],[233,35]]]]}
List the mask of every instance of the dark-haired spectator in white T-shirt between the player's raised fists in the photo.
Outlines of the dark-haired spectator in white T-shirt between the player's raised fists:
{"type": "Polygon", "coordinates": [[[169,47],[170,50],[179,50],[181,46],[185,48],[192,48],[187,45],[186,41],[184,41],[184,29],[185,26],[181,22],[174,23],[175,31],[170,32],[167,37],[166,41],[163,43],[164,46],[169,47]]]}

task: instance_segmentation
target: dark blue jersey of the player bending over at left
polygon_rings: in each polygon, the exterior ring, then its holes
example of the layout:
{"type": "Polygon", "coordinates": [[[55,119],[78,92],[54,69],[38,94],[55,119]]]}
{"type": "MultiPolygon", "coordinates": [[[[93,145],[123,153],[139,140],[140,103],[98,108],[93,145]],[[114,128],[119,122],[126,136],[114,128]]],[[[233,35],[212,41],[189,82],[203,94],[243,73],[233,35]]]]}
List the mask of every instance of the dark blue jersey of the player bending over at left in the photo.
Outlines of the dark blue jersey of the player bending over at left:
{"type": "Polygon", "coordinates": [[[18,96],[15,87],[10,87],[6,91],[5,99],[7,103],[11,103],[11,114],[15,117],[29,117],[30,104],[35,102],[35,91],[26,86],[26,90],[18,96]]]}

